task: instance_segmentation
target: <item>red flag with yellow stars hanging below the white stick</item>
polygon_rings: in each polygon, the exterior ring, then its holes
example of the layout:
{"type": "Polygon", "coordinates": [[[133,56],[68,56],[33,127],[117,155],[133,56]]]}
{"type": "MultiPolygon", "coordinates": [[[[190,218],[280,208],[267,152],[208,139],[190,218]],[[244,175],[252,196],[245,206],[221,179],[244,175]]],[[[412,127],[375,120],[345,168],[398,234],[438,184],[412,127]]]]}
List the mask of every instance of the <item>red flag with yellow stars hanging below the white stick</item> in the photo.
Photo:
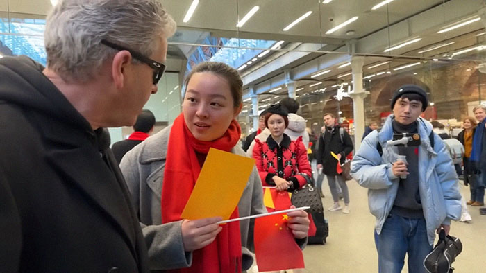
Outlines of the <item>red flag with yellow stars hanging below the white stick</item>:
{"type": "Polygon", "coordinates": [[[255,220],[255,256],[258,271],[304,268],[303,254],[287,227],[287,214],[255,220]]]}

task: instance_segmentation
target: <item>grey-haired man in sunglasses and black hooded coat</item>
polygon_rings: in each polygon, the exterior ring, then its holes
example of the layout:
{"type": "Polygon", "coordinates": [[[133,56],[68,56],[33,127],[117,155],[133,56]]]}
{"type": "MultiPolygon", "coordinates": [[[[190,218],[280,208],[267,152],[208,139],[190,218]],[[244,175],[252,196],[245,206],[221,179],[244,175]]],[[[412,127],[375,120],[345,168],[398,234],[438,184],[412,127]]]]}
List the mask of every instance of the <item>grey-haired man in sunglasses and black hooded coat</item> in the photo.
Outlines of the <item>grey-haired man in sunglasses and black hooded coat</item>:
{"type": "Polygon", "coordinates": [[[0,272],[149,272],[103,127],[135,123],[175,29],[156,0],[61,0],[47,67],[0,59],[0,272]]]}

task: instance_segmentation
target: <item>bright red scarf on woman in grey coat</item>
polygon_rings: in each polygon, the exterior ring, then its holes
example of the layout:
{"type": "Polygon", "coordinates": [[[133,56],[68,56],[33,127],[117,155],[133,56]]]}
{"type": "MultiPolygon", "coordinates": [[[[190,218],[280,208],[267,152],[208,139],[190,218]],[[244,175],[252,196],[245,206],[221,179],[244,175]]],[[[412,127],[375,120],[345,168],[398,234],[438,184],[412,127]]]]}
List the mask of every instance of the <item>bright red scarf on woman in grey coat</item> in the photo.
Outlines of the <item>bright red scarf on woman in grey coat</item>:
{"type": "MultiPolygon", "coordinates": [[[[181,213],[196,184],[201,166],[196,152],[207,154],[209,148],[229,152],[240,139],[240,125],[233,119],[228,130],[215,141],[199,141],[187,128],[183,114],[172,125],[162,184],[162,223],[181,220],[181,213]],[[195,152],[196,151],[196,152],[195,152]]],[[[238,208],[231,218],[238,217],[238,208]]],[[[167,272],[241,272],[242,244],[239,222],[224,224],[212,243],[192,252],[192,266],[167,272]]]]}

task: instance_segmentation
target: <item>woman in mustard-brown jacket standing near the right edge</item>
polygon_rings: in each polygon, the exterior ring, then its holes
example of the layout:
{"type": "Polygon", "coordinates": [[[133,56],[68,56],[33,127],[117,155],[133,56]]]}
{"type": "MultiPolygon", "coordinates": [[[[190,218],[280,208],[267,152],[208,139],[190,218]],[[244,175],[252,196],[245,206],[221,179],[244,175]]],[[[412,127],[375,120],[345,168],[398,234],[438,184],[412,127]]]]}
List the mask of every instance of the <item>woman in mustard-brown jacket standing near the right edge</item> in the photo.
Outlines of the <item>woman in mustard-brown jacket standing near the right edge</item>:
{"type": "Polygon", "coordinates": [[[476,172],[476,166],[470,164],[469,157],[471,157],[471,151],[473,147],[473,136],[476,131],[476,120],[470,116],[464,118],[462,121],[462,130],[458,134],[458,141],[464,146],[464,157],[462,158],[462,163],[464,164],[464,185],[469,185],[469,190],[471,191],[471,199],[469,199],[466,204],[474,204],[476,206],[476,181],[472,175],[476,172]],[[472,179],[471,179],[472,178],[472,179]]]}

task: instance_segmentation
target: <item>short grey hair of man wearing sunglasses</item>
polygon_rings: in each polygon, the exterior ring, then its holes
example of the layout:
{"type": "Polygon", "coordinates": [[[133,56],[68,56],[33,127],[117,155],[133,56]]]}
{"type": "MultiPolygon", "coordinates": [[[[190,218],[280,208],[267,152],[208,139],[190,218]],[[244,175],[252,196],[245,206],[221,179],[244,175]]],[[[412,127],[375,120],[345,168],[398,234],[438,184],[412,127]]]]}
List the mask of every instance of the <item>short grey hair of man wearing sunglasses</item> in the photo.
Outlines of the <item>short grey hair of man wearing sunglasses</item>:
{"type": "Polygon", "coordinates": [[[175,32],[176,22],[157,0],[61,0],[47,15],[47,67],[65,81],[85,82],[117,53],[102,39],[149,57],[160,37],[175,32]]]}

